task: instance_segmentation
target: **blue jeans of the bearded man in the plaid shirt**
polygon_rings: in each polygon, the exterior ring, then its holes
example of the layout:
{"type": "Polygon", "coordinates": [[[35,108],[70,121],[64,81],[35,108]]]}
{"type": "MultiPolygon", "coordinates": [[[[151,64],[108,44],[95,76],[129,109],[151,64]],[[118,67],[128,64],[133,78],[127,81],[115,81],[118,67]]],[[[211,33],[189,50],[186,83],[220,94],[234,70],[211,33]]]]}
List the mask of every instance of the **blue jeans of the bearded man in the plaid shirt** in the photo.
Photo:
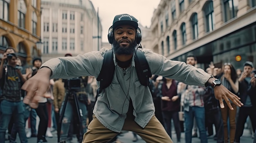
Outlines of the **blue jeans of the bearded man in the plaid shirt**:
{"type": "Polygon", "coordinates": [[[194,117],[196,124],[199,128],[199,133],[200,133],[200,140],[201,143],[207,143],[207,134],[205,130],[205,112],[204,108],[198,107],[198,106],[193,106],[189,107],[189,112],[184,111],[184,117],[185,117],[185,141],[186,143],[191,143],[192,142],[192,128],[193,128],[193,123],[194,123],[194,117]]]}

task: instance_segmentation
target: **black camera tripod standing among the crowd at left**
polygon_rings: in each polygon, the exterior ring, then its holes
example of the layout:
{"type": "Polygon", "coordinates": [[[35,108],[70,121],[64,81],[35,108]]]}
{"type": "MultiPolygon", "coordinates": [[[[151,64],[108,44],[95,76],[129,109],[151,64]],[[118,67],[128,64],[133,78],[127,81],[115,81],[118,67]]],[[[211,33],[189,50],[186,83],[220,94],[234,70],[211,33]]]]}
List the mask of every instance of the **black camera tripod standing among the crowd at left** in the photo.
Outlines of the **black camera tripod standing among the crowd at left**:
{"type": "MultiPolygon", "coordinates": [[[[83,125],[82,125],[82,120],[81,120],[81,117],[83,116],[83,114],[82,114],[82,111],[80,110],[79,105],[78,105],[78,99],[77,99],[77,96],[76,96],[76,92],[74,90],[70,90],[70,92],[68,92],[68,94],[66,94],[65,101],[64,101],[64,104],[63,104],[63,108],[62,108],[62,111],[61,111],[61,114],[60,114],[60,119],[58,121],[58,127],[57,127],[58,143],[60,143],[61,125],[62,125],[62,120],[63,120],[64,114],[65,114],[65,110],[66,110],[67,101],[68,101],[69,96],[73,97],[73,100],[74,100],[74,103],[75,103],[75,107],[72,107],[72,108],[76,109],[76,112],[74,114],[76,114],[77,119],[78,119],[78,123],[79,123],[79,124],[77,124],[77,128],[79,128],[79,133],[77,134],[78,139],[81,138],[81,136],[82,136],[81,133],[83,132],[83,125]]],[[[61,143],[65,143],[65,142],[66,141],[62,141],[61,143]]]]}

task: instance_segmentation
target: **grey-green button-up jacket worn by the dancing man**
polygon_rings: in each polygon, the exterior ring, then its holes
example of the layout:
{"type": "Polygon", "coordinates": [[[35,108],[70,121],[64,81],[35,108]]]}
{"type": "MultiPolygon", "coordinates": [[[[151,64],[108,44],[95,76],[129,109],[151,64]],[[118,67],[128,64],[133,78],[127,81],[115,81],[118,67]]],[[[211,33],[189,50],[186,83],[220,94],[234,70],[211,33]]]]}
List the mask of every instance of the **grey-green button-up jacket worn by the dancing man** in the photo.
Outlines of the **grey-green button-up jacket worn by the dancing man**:
{"type": "MultiPolygon", "coordinates": [[[[76,57],[50,59],[43,66],[47,66],[52,70],[50,78],[98,77],[103,63],[103,56],[107,50],[102,48],[100,51],[93,51],[76,57]]],[[[187,65],[184,62],[168,60],[166,57],[153,53],[149,49],[142,49],[142,51],[146,56],[151,73],[154,75],[162,75],[185,84],[197,86],[204,86],[211,77],[204,70],[187,65]]],[[[129,101],[131,100],[135,122],[145,128],[155,113],[150,90],[139,82],[134,56],[132,57],[130,68],[125,71],[116,64],[115,56],[114,62],[115,73],[112,83],[99,95],[93,113],[106,128],[114,132],[121,132],[126,119],[129,101]]]]}

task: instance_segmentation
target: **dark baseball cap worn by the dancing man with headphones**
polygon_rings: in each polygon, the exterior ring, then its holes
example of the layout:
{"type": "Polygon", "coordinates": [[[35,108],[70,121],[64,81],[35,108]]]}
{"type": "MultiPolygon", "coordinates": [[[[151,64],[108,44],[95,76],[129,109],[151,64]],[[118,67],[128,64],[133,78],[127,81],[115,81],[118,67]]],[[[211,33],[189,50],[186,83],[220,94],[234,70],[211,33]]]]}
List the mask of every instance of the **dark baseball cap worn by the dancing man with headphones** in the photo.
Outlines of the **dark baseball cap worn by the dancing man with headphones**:
{"type": "Polygon", "coordinates": [[[135,27],[135,29],[138,28],[138,20],[129,14],[119,14],[116,15],[113,20],[113,29],[117,28],[119,25],[131,25],[135,27]]]}

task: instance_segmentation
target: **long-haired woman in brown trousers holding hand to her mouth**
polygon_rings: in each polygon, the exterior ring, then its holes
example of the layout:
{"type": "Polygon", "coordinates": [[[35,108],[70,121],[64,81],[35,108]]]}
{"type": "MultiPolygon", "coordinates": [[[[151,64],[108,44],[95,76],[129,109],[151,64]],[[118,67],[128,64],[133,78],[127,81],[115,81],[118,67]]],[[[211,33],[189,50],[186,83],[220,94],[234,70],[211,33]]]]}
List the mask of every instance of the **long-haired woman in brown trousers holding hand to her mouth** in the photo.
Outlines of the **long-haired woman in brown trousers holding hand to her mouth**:
{"type": "MultiPolygon", "coordinates": [[[[238,85],[238,78],[236,74],[236,70],[234,66],[230,63],[225,63],[223,66],[223,75],[220,77],[220,81],[222,82],[223,86],[225,86],[228,90],[230,90],[232,93],[237,94],[239,90],[238,85]]],[[[224,105],[227,105],[225,101],[224,105]]],[[[236,106],[234,103],[231,102],[231,105],[233,105],[234,110],[230,110],[227,108],[221,109],[221,115],[223,120],[223,126],[224,126],[224,141],[225,143],[234,142],[235,139],[235,133],[236,133],[236,106]],[[229,119],[229,125],[228,125],[228,119],[229,119]],[[229,126],[229,135],[228,135],[228,126],[229,126]]],[[[239,129],[240,130],[240,129],[239,129]]]]}

